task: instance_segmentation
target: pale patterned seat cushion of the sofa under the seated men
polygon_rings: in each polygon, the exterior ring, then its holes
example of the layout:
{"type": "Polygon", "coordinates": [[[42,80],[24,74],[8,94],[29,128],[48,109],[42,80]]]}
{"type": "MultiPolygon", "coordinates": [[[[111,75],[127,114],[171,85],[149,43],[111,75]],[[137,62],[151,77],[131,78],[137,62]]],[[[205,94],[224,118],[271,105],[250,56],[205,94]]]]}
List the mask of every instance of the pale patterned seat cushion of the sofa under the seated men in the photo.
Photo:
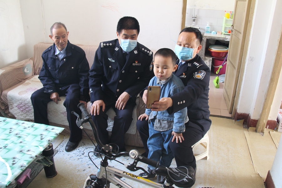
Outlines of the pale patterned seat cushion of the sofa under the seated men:
{"type": "MultiPolygon", "coordinates": [[[[7,100],[9,105],[9,110],[12,115],[16,117],[18,120],[34,120],[33,115],[33,107],[31,104],[30,96],[31,94],[42,88],[42,84],[38,79],[38,75],[34,75],[29,79],[22,81],[16,86],[5,90],[3,93],[5,94],[5,100],[7,100]]],[[[52,123],[57,123],[61,125],[69,125],[66,118],[66,109],[63,105],[65,101],[65,96],[60,97],[61,101],[58,101],[58,104],[51,101],[48,103],[47,111],[48,111],[48,119],[52,123]]],[[[136,104],[138,104],[138,97],[136,99],[136,104]]],[[[87,103],[87,110],[90,112],[91,102],[87,103]]],[[[133,109],[133,121],[127,133],[135,134],[136,133],[136,121],[137,114],[136,108],[133,109]]],[[[108,110],[108,131],[112,131],[113,119],[115,117],[115,112],[113,109],[108,110]]],[[[85,128],[91,129],[90,126],[86,126],[85,128]]]]}

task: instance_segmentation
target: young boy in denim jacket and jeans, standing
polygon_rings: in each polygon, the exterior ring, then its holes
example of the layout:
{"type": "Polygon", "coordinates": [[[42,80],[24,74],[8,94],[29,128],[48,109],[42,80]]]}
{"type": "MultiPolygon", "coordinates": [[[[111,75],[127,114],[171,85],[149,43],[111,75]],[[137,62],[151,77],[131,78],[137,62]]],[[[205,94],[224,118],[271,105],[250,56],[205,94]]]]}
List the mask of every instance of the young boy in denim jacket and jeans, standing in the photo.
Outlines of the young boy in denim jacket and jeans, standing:
{"type": "MultiPolygon", "coordinates": [[[[160,86],[160,98],[170,97],[184,89],[182,81],[172,74],[177,69],[175,65],[176,55],[168,49],[159,49],[154,55],[154,74],[150,80],[149,86],[160,86]]],[[[146,109],[145,113],[140,115],[138,119],[149,119],[149,139],[148,158],[159,161],[160,166],[169,167],[173,159],[171,149],[169,147],[170,138],[173,135],[172,142],[176,139],[182,142],[182,133],[185,131],[185,123],[188,122],[187,108],[168,114],[168,112],[155,112],[146,109]]],[[[147,173],[139,174],[143,178],[155,178],[155,167],[148,166],[147,173]]]]}

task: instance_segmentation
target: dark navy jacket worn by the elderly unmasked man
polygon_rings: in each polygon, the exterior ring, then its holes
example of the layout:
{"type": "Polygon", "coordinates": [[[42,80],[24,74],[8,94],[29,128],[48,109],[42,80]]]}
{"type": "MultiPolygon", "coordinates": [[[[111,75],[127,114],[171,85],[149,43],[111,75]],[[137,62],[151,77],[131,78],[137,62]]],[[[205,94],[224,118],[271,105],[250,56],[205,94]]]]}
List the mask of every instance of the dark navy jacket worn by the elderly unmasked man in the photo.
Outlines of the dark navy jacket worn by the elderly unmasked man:
{"type": "Polygon", "coordinates": [[[46,93],[63,90],[71,84],[79,84],[81,101],[89,101],[89,64],[85,52],[74,44],[68,44],[65,57],[55,55],[55,43],[42,53],[43,65],[39,80],[46,93]]]}

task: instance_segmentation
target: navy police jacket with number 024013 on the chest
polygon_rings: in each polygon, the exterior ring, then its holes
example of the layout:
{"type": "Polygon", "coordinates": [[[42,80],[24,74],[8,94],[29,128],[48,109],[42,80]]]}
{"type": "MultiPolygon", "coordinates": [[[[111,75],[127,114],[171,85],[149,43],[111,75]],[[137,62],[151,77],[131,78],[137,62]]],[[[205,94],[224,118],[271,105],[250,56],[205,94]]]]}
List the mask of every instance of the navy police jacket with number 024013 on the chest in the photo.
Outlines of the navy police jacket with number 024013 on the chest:
{"type": "Polygon", "coordinates": [[[125,91],[135,98],[154,76],[153,52],[137,42],[125,62],[118,39],[101,42],[89,71],[91,102],[116,102],[125,91]]]}

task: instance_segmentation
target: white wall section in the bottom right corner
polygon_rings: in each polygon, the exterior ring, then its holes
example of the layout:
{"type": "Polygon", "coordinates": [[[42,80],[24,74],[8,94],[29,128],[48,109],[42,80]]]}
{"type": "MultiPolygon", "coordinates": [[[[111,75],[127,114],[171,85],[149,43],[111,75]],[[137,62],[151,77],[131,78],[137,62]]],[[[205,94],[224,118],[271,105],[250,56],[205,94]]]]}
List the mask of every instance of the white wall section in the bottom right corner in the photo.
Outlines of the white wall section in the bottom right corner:
{"type": "Polygon", "coordinates": [[[282,187],[282,135],[270,170],[275,187],[282,187]]]}

